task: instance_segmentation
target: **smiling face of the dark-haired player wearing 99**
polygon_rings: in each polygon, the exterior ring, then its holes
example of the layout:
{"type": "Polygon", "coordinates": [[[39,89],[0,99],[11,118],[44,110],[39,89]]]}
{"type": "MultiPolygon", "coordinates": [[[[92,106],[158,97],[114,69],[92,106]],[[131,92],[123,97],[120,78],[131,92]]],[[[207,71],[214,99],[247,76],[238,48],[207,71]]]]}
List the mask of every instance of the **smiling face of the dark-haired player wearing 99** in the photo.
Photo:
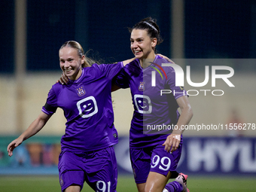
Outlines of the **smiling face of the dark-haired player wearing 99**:
{"type": "Polygon", "coordinates": [[[154,59],[154,48],[157,38],[151,39],[145,29],[133,29],[131,32],[131,50],[142,63],[143,59],[154,59]]]}

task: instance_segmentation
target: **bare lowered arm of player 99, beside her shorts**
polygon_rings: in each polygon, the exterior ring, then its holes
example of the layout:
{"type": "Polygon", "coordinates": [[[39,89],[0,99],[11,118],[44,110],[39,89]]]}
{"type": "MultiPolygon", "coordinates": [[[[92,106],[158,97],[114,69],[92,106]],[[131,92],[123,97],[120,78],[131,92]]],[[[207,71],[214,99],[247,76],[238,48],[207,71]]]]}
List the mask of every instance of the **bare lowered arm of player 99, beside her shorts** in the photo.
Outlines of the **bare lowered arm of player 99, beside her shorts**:
{"type": "Polygon", "coordinates": [[[178,106],[181,108],[181,116],[178,118],[177,126],[172,130],[166,141],[163,143],[165,151],[175,151],[181,142],[181,134],[184,132],[184,125],[187,125],[193,117],[193,111],[187,96],[181,96],[176,99],[178,106]]]}

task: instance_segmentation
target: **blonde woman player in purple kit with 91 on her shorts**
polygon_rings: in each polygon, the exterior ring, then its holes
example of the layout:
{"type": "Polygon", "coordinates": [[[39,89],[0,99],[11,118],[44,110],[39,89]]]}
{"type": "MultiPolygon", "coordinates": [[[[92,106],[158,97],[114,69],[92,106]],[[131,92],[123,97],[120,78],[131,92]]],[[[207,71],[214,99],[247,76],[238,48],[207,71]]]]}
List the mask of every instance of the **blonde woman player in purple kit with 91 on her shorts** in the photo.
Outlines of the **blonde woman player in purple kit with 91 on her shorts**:
{"type": "Polygon", "coordinates": [[[62,108],[67,120],[58,165],[62,191],[79,192],[84,181],[95,191],[116,191],[117,162],[113,145],[117,144],[117,130],[111,81],[132,60],[90,66],[78,42],[63,44],[59,49],[59,66],[69,78],[69,84],[53,85],[41,113],[8,145],[9,156],[14,148],[43,128],[56,108],[62,108]]]}

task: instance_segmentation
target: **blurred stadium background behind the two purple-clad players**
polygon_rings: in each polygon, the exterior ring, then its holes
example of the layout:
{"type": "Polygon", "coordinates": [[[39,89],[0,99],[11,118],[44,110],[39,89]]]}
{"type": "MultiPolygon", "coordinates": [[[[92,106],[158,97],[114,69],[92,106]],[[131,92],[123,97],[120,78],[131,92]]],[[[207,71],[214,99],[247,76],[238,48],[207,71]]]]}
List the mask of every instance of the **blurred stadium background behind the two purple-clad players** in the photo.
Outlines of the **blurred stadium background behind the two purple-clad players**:
{"type": "MultiPolygon", "coordinates": [[[[9,158],[6,148],[37,117],[48,90],[59,79],[59,47],[81,43],[88,55],[110,63],[133,57],[128,27],[145,17],[157,19],[163,43],[159,53],[182,66],[191,81],[203,82],[205,66],[230,66],[235,87],[211,80],[191,87],[190,125],[223,125],[218,130],[186,130],[178,172],[190,175],[190,191],[255,191],[256,184],[256,2],[253,0],[2,0],[0,65],[1,191],[56,191],[59,141],[65,118],[57,110],[37,136],[9,158]],[[189,61],[193,62],[189,62],[189,61]],[[206,92],[200,90],[210,90],[206,92]],[[223,90],[214,96],[213,90],[223,90]],[[191,92],[191,94],[195,94],[191,92]],[[245,123],[245,130],[226,130],[245,123]],[[250,125],[251,123],[251,125],[250,125]]],[[[211,72],[211,71],[210,71],[211,72]]],[[[211,73],[210,73],[211,78],[211,73]]],[[[118,191],[136,191],[129,159],[133,114],[130,90],[113,93],[118,191]]],[[[221,127],[221,126],[220,126],[221,127]]],[[[83,191],[87,190],[87,184],[83,191]]]]}

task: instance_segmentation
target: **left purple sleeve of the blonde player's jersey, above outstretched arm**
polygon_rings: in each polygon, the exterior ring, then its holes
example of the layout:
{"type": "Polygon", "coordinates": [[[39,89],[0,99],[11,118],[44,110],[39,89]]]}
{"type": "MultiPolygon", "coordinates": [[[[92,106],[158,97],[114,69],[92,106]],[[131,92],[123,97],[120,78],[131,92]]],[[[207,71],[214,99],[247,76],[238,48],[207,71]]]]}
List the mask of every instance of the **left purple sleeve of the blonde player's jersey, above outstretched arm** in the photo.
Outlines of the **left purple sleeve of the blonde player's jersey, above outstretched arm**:
{"type": "Polygon", "coordinates": [[[53,114],[56,112],[57,108],[56,93],[52,87],[48,93],[47,100],[41,111],[43,111],[45,114],[53,114]]]}

